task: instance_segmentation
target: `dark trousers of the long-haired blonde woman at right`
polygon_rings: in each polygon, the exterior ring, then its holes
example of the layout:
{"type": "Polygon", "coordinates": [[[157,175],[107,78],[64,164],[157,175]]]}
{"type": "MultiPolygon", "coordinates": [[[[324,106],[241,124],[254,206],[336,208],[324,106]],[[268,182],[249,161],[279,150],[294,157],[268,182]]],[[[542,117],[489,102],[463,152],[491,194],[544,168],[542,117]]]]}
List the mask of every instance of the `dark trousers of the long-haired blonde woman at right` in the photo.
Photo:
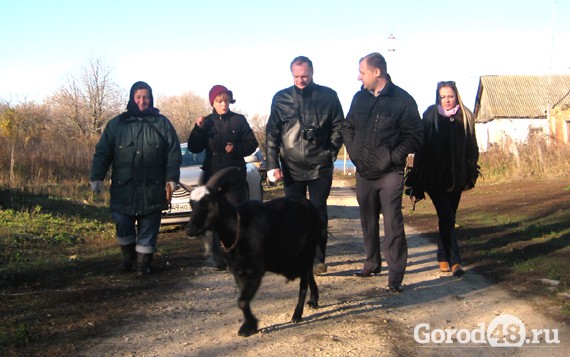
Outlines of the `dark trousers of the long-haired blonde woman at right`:
{"type": "Polygon", "coordinates": [[[451,266],[462,264],[455,234],[455,214],[461,200],[461,192],[428,192],[428,195],[438,218],[437,261],[448,262],[451,266]]]}

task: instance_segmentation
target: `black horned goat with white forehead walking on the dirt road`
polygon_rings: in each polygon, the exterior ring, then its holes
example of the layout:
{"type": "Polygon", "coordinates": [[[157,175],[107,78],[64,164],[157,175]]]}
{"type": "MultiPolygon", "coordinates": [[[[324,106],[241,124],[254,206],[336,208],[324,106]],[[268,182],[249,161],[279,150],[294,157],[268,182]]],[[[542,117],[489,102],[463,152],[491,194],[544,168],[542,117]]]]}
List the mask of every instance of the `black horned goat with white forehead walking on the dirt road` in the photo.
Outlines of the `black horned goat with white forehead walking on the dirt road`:
{"type": "Polygon", "coordinates": [[[265,203],[231,204],[225,193],[236,174],[235,168],[220,170],[206,186],[192,191],[192,218],[187,234],[198,236],[212,229],[219,235],[239,288],[238,307],[245,318],[238,334],[250,336],[257,332],[258,322],[251,312],[250,301],[266,271],[282,274],[289,280],[301,279],[292,322],[302,319],[307,286],[311,290],[308,305],[318,307],[313,260],[323,223],[316,207],[307,199],[277,198],[265,203]]]}

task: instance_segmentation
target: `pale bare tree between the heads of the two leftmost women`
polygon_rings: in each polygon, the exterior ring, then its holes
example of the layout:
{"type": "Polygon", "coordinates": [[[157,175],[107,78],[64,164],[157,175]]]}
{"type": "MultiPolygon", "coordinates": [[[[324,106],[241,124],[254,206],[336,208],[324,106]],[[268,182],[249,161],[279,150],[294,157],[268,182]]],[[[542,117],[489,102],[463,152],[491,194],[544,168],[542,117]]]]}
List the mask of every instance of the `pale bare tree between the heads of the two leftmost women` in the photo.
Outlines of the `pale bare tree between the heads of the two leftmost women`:
{"type": "Polygon", "coordinates": [[[181,141],[186,141],[194,127],[196,118],[207,115],[212,111],[209,102],[192,92],[178,96],[158,98],[155,106],[160,109],[170,121],[181,141]]]}

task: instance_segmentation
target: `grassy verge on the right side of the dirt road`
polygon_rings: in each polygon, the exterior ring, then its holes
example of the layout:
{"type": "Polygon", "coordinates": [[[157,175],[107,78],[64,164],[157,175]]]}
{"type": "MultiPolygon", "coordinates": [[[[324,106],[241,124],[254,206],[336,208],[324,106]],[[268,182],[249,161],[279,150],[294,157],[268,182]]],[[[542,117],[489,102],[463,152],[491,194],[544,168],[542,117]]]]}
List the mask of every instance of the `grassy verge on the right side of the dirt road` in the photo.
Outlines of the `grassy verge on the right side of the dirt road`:
{"type": "MultiPolygon", "coordinates": [[[[567,182],[481,183],[462,196],[456,221],[467,265],[541,305],[548,302],[544,307],[562,319],[570,318],[570,303],[562,295],[570,292],[567,182]],[[542,279],[558,285],[545,285],[542,279]]],[[[408,224],[437,238],[437,217],[429,198],[405,214],[408,224]]]]}

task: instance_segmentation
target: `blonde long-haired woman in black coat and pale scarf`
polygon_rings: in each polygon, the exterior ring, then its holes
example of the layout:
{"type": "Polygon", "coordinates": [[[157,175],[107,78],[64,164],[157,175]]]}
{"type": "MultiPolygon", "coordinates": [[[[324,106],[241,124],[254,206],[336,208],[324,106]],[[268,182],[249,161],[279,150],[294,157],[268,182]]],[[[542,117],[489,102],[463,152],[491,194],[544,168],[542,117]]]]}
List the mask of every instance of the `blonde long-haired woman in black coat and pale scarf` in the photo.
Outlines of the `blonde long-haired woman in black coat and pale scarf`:
{"type": "Polygon", "coordinates": [[[455,217],[461,193],[475,186],[479,175],[479,148],[475,118],[453,81],[437,84],[436,104],[423,114],[424,143],[414,155],[410,176],[412,199],[427,192],[437,211],[439,239],[437,261],[442,272],[461,277],[455,217]]]}

